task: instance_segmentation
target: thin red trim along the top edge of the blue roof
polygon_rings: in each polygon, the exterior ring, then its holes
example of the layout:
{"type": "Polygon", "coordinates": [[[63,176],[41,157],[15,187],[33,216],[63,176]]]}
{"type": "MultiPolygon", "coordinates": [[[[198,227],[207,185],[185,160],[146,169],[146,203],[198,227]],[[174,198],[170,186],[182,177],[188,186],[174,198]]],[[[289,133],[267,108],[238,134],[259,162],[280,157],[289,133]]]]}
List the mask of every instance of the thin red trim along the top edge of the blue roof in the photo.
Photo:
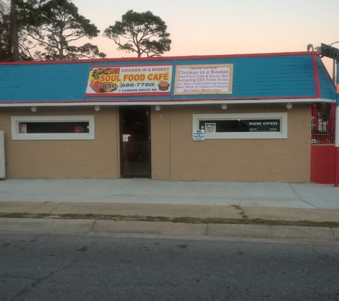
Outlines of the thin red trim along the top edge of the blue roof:
{"type": "Polygon", "coordinates": [[[249,54],[223,54],[213,56],[161,56],[153,58],[101,58],[93,60],[73,60],[73,61],[16,61],[16,62],[0,62],[0,65],[31,65],[31,64],[48,64],[48,63],[102,63],[115,61],[171,61],[171,60],[197,60],[211,58],[255,58],[270,56],[306,56],[314,55],[315,51],[300,52],[281,52],[281,53],[249,53],[249,54]]]}

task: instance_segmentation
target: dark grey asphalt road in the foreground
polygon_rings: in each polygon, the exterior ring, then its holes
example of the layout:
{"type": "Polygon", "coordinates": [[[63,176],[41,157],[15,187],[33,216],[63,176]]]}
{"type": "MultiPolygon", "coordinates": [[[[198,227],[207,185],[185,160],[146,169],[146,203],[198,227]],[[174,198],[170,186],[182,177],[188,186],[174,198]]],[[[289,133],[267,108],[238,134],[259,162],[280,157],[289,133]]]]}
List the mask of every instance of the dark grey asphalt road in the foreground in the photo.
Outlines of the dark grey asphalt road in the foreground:
{"type": "Polygon", "coordinates": [[[339,300],[338,245],[0,235],[0,300],[339,300]]]}

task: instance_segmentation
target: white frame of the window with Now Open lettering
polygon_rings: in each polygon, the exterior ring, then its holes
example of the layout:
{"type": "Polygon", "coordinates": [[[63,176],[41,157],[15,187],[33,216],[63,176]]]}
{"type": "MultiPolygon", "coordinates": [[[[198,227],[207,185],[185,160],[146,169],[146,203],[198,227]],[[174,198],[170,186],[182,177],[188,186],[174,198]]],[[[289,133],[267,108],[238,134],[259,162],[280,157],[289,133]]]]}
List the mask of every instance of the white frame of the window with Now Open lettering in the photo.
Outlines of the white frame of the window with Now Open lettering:
{"type": "Polygon", "coordinates": [[[208,133],[206,139],[287,139],[288,113],[223,113],[223,114],[193,114],[192,139],[194,131],[199,130],[199,121],[234,120],[234,119],[280,119],[280,132],[236,132],[236,133],[208,133]]]}

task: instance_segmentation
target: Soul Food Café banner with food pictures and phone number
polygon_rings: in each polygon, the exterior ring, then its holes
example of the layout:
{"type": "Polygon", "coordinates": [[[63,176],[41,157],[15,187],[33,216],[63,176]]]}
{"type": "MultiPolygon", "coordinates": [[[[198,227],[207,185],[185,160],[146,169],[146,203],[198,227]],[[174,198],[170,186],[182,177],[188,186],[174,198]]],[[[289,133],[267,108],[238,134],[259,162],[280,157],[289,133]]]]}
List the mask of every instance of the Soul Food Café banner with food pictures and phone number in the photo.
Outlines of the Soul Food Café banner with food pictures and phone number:
{"type": "Polygon", "coordinates": [[[92,67],[86,94],[118,96],[128,93],[170,94],[171,65],[92,67]]]}

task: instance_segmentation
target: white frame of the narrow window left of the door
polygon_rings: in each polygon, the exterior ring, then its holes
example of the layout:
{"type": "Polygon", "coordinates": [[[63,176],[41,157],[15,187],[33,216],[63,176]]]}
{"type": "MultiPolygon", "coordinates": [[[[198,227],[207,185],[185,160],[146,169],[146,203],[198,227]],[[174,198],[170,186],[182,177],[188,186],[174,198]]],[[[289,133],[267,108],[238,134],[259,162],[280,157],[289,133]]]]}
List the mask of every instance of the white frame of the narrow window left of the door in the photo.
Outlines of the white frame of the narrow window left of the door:
{"type": "Polygon", "coordinates": [[[94,116],[12,116],[12,140],[94,140],[94,116]],[[89,133],[19,133],[25,122],[88,122],[89,133]]]}

